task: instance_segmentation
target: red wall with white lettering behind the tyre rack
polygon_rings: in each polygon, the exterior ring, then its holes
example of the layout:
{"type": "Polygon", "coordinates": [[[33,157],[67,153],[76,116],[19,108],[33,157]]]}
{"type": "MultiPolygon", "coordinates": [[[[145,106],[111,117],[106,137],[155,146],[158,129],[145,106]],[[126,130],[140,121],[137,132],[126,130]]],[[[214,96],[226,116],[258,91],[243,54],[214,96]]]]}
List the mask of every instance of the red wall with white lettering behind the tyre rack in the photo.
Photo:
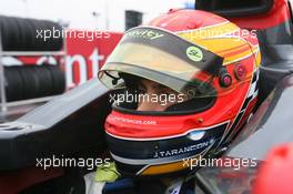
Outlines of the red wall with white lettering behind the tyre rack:
{"type": "MultiPolygon", "coordinates": [[[[64,62],[60,64],[65,73],[67,89],[72,89],[97,76],[99,69],[122,38],[122,33],[119,32],[99,32],[94,38],[91,33],[87,37],[85,31],[75,32],[67,32],[67,55],[63,58],[64,62]]],[[[7,67],[42,65],[43,63],[57,65],[57,60],[53,57],[19,57],[6,58],[3,63],[7,67]]]]}

